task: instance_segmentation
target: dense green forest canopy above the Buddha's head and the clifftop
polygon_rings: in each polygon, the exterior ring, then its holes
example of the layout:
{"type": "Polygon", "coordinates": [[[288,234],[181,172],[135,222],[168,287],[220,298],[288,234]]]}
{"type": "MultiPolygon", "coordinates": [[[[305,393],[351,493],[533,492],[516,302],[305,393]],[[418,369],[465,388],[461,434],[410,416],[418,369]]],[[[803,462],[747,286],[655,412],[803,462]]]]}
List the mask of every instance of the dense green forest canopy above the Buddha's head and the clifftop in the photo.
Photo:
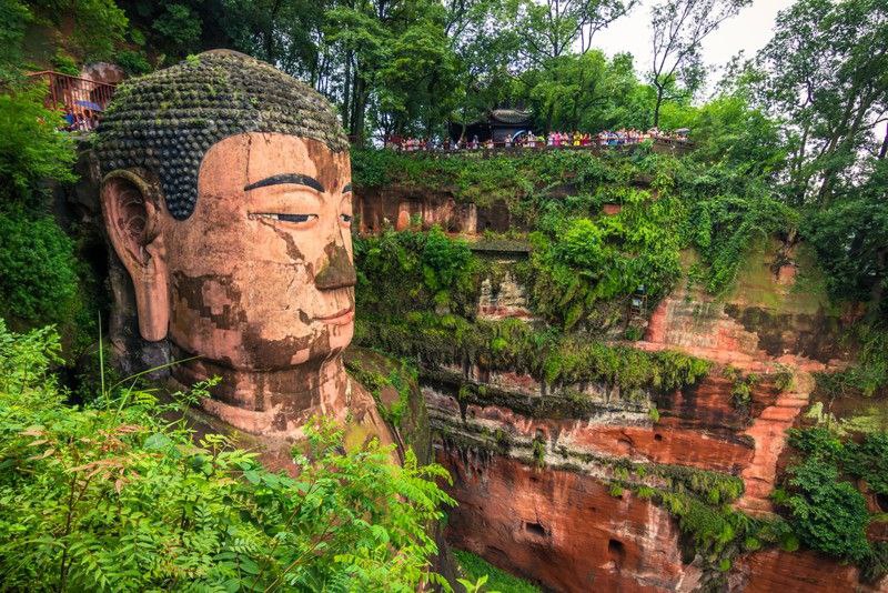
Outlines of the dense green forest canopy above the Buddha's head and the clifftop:
{"type": "MultiPolygon", "coordinates": [[[[690,128],[695,159],[754,175],[805,213],[797,230],[820,253],[834,294],[867,301],[878,316],[888,277],[888,7],[799,0],[757,56],[707,81],[700,42],[748,4],[655,2],[652,68],[642,71],[630,54],[595,48],[597,32],[637,16],[636,0],[6,0],[0,62],[16,84],[30,38],[51,26],[71,32],[48,57],[57,69],[113,59],[138,74],[230,47],[313,84],[359,143],[441,138],[450,122],[497,107],[528,109],[541,132],[690,128]]],[[[4,110],[33,100],[7,97],[4,110]]],[[[67,174],[63,139],[24,130],[24,118],[4,125],[0,171],[18,195],[67,174]],[[21,150],[26,140],[31,150],[21,150]]]]}

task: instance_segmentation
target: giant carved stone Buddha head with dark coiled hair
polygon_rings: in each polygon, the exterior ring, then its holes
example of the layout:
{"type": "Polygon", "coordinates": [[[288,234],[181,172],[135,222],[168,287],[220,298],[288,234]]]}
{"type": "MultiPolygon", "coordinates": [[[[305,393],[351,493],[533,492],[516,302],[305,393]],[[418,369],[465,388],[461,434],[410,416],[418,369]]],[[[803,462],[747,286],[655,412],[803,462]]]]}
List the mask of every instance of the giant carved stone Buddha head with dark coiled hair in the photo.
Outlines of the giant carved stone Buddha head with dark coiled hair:
{"type": "Polygon", "coordinates": [[[145,340],[243,371],[349,344],[351,170],[323,97],[246,56],[202,53],[121,88],[98,153],[145,340]]]}

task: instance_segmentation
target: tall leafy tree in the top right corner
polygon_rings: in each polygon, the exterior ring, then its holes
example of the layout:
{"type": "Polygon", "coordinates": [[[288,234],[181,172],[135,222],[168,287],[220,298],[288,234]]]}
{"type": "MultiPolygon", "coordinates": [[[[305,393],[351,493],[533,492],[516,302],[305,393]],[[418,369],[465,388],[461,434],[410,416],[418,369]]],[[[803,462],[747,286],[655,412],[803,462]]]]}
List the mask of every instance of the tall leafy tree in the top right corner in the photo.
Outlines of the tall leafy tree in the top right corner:
{"type": "Polygon", "coordinates": [[[758,60],[760,97],[787,120],[789,198],[823,205],[860,185],[865,162],[888,153],[888,132],[876,135],[888,120],[888,4],[799,0],[758,60]]]}

